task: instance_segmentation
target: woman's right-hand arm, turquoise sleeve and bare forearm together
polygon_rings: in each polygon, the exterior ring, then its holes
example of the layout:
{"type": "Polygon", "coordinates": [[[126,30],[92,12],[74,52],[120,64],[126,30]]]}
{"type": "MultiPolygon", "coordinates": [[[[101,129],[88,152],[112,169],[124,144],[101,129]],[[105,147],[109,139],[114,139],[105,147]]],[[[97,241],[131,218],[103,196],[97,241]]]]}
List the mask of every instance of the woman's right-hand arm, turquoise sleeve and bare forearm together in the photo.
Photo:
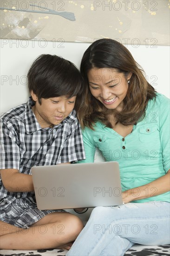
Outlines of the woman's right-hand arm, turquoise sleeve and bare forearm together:
{"type": "Polygon", "coordinates": [[[159,110],[157,122],[159,125],[159,137],[163,149],[163,167],[166,174],[143,186],[128,189],[122,193],[124,203],[140,200],[170,191],[170,99],[164,95],[158,96],[159,110]],[[168,171],[167,171],[168,170],[168,171]]]}

